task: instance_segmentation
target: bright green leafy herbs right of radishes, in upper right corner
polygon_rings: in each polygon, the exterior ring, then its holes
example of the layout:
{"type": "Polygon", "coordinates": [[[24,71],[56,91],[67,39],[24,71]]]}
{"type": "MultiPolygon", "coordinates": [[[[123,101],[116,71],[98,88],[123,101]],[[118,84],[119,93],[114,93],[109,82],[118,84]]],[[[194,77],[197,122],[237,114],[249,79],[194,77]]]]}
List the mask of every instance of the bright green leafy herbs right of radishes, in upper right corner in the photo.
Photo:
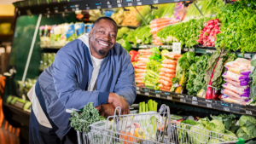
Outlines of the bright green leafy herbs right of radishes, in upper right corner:
{"type": "Polygon", "coordinates": [[[223,22],[217,35],[216,47],[240,50],[244,52],[256,51],[256,9],[255,2],[242,0],[234,4],[218,7],[218,19],[223,22]],[[249,6],[247,4],[250,4],[249,6]]]}

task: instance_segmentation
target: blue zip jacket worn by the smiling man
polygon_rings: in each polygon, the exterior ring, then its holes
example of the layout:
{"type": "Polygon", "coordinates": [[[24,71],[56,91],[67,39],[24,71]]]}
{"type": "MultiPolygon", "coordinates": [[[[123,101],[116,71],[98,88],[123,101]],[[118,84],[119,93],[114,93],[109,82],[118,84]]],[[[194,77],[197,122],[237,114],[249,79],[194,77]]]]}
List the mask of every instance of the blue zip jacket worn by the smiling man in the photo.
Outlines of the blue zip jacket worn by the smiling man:
{"type": "Polygon", "coordinates": [[[102,60],[96,90],[86,91],[92,71],[89,49],[77,39],[61,48],[38,78],[49,118],[58,127],[60,138],[70,130],[67,108],[82,109],[88,102],[99,106],[108,101],[109,92],[125,97],[129,105],[135,101],[134,69],[130,55],[119,43],[102,60]]]}

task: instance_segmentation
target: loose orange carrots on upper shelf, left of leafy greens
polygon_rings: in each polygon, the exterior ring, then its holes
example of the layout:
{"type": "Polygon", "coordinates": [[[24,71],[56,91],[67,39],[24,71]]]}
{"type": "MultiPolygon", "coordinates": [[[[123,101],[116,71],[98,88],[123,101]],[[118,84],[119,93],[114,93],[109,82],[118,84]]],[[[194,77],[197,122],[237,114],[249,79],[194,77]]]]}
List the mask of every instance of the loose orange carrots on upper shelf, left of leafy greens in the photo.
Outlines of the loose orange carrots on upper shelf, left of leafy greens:
{"type": "Polygon", "coordinates": [[[173,18],[160,18],[160,19],[155,19],[152,20],[150,22],[150,29],[151,29],[151,33],[153,35],[153,43],[154,45],[163,45],[163,43],[161,43],[160,41],[160,37],[156,36],[157,32],[160,32],[160,30],[162,30],[163,28],[165,28],[166,26],[171,26],[174,23],[179,22],[179,19],[173,19],[173,18]]]}

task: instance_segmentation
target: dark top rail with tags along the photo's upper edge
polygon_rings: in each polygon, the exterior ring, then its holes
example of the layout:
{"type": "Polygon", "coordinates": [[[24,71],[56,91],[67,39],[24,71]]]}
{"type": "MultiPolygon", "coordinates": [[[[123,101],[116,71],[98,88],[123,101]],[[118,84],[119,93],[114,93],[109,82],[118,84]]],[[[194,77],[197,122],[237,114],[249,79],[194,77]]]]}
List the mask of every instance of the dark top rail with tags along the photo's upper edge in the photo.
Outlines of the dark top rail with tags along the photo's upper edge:
{"type": "MultiPolygon", "coordinates": [[[[113,9],[160,3],[178,3],[187,0],[108,0],[108,1],[84,1],[84,0],[28,0],[13,3],[19,9],[19,14],[59,14],[74,12],[76,10],[113,9]]],[[[192,0],[193,1],[193,0],[192,0]]]]}

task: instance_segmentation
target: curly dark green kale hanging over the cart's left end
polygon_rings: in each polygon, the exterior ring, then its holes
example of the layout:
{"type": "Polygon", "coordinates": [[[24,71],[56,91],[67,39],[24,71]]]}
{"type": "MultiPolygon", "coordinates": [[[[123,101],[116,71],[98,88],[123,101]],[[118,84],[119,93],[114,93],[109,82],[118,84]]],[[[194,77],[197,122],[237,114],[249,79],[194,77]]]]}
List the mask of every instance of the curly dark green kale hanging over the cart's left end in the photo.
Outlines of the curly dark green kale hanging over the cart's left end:
{"type": "Polygon", "coordinates": [[[73,111],[71,113],[71,118],[69,118],[71,127],[79,132],[87,132],[90,124],[104,119],[106,118],[99,115],[98,110],[93,106],[93,102],[89,102],[85,105],[81,114],[73,111]]]}

